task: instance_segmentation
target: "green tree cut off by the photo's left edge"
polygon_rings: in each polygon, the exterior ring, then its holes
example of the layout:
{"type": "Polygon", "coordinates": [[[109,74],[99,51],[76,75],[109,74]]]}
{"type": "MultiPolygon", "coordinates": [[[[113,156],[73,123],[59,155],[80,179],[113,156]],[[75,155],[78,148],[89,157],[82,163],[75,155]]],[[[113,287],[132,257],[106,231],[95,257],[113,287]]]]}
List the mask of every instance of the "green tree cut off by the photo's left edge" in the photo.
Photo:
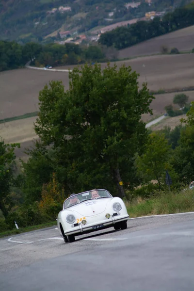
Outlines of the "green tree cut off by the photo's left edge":
{"type": "Polygon", "coordinates": [[[8,215],[11,206],[10,186],[13,184],[13,164],[15,161],[14,150],[19,144],[5,144],[0,141],[0,209],[3,215],[8,215]]]}

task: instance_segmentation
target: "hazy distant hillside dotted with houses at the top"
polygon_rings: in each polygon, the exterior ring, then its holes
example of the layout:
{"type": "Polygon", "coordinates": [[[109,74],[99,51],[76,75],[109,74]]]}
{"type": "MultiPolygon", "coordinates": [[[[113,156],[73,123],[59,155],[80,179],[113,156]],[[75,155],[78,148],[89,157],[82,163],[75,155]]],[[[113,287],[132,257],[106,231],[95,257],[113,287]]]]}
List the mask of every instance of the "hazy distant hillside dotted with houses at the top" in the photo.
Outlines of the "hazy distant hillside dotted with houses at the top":
{"type": "MultiPolygon", "coordinates": [[[[141,18],[149,11],[172,11],[191,0],[1,0],[0,39],[52,42],[57,32],[88,32],[97,27],[141,18]],[[148,3],[149,2],[149,3],[148,3]],[[54,34],[52,34],[55,32],[54,34]],[[45,38],[47,35],[50,37],[45,38]]],[[[63,36],[62,36],[63,37],[63,36]]]]}

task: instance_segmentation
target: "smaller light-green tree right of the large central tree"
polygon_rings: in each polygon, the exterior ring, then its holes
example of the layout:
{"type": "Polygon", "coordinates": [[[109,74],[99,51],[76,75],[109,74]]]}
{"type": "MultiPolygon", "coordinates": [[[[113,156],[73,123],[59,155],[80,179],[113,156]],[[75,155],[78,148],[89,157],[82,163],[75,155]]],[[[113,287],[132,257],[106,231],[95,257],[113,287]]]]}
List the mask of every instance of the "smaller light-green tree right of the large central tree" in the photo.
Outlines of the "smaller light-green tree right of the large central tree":
{"type": "Polygon", "coordinates": [[[153,132],[149,135],[144,154],[137,157],[138,173],[145,182],[157,180],[161,189],[165,170],[171,170],[169,158],[171,146],[168,145],[164,134],[153,132]]]}

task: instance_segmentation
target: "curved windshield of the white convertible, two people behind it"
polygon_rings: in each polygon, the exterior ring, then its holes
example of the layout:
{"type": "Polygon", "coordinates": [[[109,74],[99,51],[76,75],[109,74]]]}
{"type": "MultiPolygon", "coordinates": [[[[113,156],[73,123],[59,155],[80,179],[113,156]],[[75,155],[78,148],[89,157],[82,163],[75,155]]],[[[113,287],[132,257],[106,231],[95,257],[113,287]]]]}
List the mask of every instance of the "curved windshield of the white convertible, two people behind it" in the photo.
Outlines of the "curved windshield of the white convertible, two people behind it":
{"type": "Polygon", "coordinates": [[[79,204],[86,200],[93,200],[99,198],[110,198],[112,195],[106,190],[91,190],[75,194],[64,201],[64,209],[79,204]]]}

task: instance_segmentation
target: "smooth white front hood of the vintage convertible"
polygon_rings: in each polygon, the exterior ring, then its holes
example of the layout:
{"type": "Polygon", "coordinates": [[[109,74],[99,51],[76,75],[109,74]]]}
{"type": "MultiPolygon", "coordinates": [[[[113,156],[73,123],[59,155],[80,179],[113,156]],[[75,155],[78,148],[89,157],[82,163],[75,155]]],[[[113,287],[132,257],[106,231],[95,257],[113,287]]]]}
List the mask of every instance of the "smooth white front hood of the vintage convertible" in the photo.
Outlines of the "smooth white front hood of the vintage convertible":
{"type": "Polygon", "coordinates": [[[112,200],[113,198],[101,198],[101,199],[95,199],[95,200],[88,200],[85,202],[81,202],[78,205],[75,205],[71,207],[68,210],[76,211],[81,216],[93,216],[100,214],[106,210],[107,204],[112,200]]]}

